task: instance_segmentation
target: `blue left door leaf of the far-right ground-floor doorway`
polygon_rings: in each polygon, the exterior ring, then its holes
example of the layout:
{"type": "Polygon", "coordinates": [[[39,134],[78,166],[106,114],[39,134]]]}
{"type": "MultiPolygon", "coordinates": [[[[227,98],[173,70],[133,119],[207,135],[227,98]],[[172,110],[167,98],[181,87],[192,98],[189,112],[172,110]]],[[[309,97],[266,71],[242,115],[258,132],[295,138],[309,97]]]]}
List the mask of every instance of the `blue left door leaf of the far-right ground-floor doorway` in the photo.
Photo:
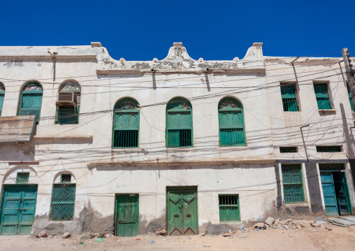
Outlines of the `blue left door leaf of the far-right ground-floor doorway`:
{"type": "Polygon", "coordinates": [[[323,188],[324,204],[326,206],[326,215],[337,216],[338,201],[335,194],[333,173],[321,172],[321,187],[323,188]]]}

